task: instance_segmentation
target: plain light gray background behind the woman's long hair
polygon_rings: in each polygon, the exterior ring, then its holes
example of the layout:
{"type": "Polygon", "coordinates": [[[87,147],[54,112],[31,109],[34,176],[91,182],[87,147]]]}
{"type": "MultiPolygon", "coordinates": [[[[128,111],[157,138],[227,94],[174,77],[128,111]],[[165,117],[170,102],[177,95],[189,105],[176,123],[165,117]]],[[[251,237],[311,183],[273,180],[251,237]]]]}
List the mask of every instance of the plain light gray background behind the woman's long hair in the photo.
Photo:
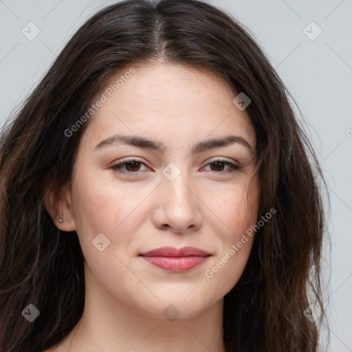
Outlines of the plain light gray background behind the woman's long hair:
{"type": "MultiPolygon", "coordinates": [[[[113,2],[0,0],[1,125],[79,25],[113,2]],[[35,33],[30,21],[40,30],[32,41],[21,32],[35,33]]],[[[352,351],[352,0],[208,2],[252,31],[303,112],[331,196],[331,255],[324,264],[329,351],[352,351]],[[316,38],[311,21],[322,30],[316,38]]]]}

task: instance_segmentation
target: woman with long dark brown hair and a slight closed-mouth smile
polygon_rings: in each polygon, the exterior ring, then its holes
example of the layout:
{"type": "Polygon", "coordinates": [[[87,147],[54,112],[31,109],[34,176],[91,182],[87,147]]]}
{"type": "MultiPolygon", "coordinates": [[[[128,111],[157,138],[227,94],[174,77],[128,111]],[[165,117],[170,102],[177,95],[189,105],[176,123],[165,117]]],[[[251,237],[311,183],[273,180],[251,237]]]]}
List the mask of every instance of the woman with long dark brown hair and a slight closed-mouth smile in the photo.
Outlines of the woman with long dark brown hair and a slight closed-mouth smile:
{"type": "Polygon", "coordinates": [[[322,175],[288,96],[212,5],[91,17],[1,135],[1,351],[318,351],[322,175]]]}

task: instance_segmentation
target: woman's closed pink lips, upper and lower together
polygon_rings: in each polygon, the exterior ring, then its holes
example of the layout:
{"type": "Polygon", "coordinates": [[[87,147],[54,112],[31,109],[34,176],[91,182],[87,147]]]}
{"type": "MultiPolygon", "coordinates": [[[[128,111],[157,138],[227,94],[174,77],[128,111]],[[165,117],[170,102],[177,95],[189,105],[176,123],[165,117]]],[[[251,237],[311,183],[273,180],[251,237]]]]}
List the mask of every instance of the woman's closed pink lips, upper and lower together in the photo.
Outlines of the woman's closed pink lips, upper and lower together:
{"type": "Polygon", "coordinates": [[[162,247],[141,253],[149,263],[170,272],[185,272],[208,258],[210,254],[195,247],[184,247],[177,250],[173,247],[162,247]]]}

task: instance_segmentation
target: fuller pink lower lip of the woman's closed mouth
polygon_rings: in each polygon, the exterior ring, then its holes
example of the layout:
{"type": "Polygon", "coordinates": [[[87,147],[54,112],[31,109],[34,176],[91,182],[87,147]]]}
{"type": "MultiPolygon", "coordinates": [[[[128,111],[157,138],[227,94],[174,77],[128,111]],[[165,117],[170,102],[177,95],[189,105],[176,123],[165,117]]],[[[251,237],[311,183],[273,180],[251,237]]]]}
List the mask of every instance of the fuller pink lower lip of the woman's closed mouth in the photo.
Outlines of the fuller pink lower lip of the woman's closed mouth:
{"type": "Polygon", "coordinates": [[[143,256],[149,263],[170,272],[186,272],[207,258],[208,256],[143,256]]]}

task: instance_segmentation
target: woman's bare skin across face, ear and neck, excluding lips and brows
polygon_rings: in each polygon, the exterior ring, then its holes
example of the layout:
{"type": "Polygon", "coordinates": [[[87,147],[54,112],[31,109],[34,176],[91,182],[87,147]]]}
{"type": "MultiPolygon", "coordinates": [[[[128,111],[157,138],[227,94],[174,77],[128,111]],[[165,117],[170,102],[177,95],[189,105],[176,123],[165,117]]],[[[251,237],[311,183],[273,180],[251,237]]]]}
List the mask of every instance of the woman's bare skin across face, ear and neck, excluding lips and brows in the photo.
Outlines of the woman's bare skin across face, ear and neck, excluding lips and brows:
{"type": "Polygon", "coordinates": [[[133,67],[135,74],[91,118],[72,184],[60,199],[45,200],[58,228],[78,234],[86,285],[82,318],[46,352],[222,352],[223,296],[239,281],[254,236],[211,278],[205,271],[256,224],[257,159],[239,143],[191,150],[203,140],[237,135],[255,151],[255,131],[233,104],[236,94],[212,72],[159,61],[133,67]],[[111,143],[94,150],[116,133],[157,140],[166,149],[111,143]],[[144,164],[125,164],[125,173],[109,168],[126,157],[144,164]],[[230,172],[227,164],[214,164],[217,158],[245,167],[230,172]],[[173,181],[162,173],[170,162],[180,172],[173,181]],[[92,245],[100,233],[110,241],[102,252],[92,245]],[[181,273],[139,256],[165,245],[211,256],[181,273]],[[173,321],[163,314],[170,304],[179,311],[173,321]]]}

